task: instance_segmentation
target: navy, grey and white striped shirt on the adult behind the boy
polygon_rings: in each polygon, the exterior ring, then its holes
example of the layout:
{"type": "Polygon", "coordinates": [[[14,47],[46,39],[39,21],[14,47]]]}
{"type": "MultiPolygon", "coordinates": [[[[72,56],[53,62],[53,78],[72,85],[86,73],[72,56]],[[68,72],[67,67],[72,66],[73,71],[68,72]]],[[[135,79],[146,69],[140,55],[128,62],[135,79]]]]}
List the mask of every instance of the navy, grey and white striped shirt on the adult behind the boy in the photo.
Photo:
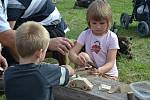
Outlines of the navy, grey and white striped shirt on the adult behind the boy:
{"type": "Polygon", "coordinates": [[[36,21],[44,26],[57,25],[62,20],[51,0],[9,0],[7,14],[8,21],[18,21],[19,26],[26,21],[36,21]]]}

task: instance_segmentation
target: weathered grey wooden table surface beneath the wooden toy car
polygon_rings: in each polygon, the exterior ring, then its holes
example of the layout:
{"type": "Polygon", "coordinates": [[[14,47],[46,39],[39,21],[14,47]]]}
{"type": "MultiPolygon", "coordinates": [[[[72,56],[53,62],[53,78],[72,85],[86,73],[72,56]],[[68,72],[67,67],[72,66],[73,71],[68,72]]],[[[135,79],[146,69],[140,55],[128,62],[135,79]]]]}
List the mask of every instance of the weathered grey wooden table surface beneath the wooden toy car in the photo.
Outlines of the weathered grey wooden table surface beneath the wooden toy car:
{"type": "Polygon", "coordinates": [[[123,86],[124,83],[120,83],[114,80],[108,80],[100,78],[99,76],[87,75],[85,72],[79,72],[80,76],[86,77],[94,85],[90,91],[83,91],[80,89],[73,89],[69,87],[54,87],[55,100],[128,100],[127,93],[112,93],[108,91],[99,90],[101,84],[110,86],[123,86]]]}

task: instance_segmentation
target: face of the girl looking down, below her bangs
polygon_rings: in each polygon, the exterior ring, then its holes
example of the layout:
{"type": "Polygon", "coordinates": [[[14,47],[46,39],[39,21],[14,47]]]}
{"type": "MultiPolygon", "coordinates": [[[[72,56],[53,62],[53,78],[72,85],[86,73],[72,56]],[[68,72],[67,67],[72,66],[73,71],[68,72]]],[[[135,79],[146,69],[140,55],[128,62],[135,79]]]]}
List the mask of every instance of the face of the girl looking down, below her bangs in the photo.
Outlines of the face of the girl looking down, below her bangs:
{"type": "Polygon", "coordinates": [[[108,22],[105,19],[100,21],[91,19],[90,28],[94,35],[103,35],[108,30],[108,22]]]}

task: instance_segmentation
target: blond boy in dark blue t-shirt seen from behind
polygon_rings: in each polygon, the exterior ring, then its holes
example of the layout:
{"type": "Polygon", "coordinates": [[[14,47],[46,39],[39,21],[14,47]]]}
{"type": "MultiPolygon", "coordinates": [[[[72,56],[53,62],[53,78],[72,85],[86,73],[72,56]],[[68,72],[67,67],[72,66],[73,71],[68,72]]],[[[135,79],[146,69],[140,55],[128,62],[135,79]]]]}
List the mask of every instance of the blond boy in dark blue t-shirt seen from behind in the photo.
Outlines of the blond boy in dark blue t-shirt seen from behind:
{"type": "Polygon", "coordinates": [[[37,22],[23,23],[16,30],[19,64],[4,73],[7,100],[53,100],[52,87],[66,85],[74,70],[53,64],[39,64],[49,45],[48,31],[37,22]]]}

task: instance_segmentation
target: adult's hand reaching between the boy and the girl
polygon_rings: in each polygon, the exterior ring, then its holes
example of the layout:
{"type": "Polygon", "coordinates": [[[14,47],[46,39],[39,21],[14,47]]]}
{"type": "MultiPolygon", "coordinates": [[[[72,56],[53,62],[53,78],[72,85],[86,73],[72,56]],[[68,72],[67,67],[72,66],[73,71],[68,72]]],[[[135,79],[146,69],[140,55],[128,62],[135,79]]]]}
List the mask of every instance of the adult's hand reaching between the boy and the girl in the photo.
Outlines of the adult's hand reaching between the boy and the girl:
{"type": "Polygon", "coordinates": [[[65,37],[51,38],[49,43],[49,50],[58,51],[65,55],[74,46],[73,42],[65,37]]]}

